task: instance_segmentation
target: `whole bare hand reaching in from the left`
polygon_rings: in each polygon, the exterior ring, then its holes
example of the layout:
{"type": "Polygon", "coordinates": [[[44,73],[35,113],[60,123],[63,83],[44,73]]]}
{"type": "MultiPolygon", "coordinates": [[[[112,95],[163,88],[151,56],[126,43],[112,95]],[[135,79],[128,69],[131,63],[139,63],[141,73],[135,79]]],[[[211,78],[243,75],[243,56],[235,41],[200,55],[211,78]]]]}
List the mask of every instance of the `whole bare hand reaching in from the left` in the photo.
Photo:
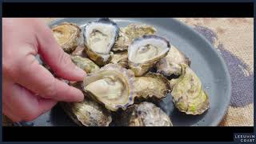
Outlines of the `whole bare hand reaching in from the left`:
{"type": "Polygon", "coordinates": [[[86,73],[74,65],[38,18],[2,18],[2,111],[13,122],[31,121],[58,101],[81,102],[82,91],[54,78],[82,81],[86,73]]]}

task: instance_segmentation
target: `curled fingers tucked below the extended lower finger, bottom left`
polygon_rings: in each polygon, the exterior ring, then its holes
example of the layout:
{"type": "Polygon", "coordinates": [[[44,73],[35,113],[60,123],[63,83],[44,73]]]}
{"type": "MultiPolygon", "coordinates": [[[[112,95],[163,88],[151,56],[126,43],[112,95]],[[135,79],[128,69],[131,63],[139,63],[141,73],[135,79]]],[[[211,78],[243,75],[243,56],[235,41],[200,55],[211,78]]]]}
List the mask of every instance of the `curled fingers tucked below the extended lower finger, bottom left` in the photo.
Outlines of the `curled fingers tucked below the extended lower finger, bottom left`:
{"type": "Polygon", "coordinates": [[[38,98],[18,84],[12,84],[10,87],[11,92],[7,95],[10,105],[4,106],[4,113],[14,122],[32,121],[57,103],[51,99],[38,98]]]}

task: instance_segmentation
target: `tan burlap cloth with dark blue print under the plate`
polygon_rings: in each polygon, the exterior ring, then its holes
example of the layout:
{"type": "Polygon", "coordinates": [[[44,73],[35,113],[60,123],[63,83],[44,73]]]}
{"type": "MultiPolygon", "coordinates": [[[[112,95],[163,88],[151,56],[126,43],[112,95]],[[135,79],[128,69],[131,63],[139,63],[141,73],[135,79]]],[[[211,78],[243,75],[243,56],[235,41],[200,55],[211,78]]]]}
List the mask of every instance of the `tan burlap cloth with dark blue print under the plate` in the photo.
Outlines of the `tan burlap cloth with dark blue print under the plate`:
{"type": "MultiPolygon", "coordinates": [[[[55,18],[42,18],[46,23],[55,18]]],[[[177,18],[204,35],[230,70],[232,95],[219,126],[254,126],[254,18],[177,18]]],[[[3,124],[10,120],[3,117],[3,124]]]]}

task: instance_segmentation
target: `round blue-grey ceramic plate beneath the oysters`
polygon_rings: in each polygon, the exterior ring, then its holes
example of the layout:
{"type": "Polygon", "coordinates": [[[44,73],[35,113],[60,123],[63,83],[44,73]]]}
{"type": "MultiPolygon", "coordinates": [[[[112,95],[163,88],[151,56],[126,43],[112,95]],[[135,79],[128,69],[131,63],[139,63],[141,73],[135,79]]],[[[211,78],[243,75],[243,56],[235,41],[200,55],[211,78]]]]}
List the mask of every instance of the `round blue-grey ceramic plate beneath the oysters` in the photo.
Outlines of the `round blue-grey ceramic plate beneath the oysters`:
{"type": "MultiPolygon", "coordinates": [[[[50,23],[54,26],[60,22],[74,22],[84,26],[86,22],[98,18],[59,18],[50,23]]],[[[204,90],[210,97],[210,109],[198,116],[186,115],[174,108],[172,98],[168,95],[161,103],[174,126],[218,126],[230,103],[230,74],[218,51],[203,38],[201,34],[174,18],[111,18],[119,26],[131,22],[141,22],[154,26],[170,43],[184,52],[191,60],[191,68],[202,80],[204,90]]],[[[76,126],[63,112],[60,106],[43,114],[33,122],[20,122],[20,126],[76,126]]]]}

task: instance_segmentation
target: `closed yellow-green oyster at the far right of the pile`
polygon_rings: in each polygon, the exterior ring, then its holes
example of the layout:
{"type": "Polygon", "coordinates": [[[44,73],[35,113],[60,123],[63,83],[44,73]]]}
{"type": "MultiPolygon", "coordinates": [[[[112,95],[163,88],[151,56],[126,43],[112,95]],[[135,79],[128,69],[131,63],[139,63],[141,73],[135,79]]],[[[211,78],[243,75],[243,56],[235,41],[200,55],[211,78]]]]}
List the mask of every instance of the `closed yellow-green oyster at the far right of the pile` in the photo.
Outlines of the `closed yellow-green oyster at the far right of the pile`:
{"type": "Polygon", "coordinates": [[[209,98],[198,76],[189,66],[182,64],[182,74],[171,92],[174,105],[186,114],[202,114],[209,108],[209,98]]]}

